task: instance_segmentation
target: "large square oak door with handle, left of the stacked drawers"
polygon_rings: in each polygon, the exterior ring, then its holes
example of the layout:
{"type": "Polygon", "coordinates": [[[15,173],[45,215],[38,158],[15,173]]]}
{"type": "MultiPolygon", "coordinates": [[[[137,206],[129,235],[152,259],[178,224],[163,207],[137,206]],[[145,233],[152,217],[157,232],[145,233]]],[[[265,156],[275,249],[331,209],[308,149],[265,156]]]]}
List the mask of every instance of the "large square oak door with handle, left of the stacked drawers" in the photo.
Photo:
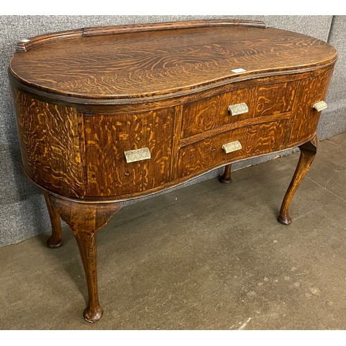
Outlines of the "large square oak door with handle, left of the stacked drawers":
{"type": "Polygon", "coordinates": [[[84,115],[89,196],[121,196],[169,182],[173,123],[173,108],[84,115]]]}

